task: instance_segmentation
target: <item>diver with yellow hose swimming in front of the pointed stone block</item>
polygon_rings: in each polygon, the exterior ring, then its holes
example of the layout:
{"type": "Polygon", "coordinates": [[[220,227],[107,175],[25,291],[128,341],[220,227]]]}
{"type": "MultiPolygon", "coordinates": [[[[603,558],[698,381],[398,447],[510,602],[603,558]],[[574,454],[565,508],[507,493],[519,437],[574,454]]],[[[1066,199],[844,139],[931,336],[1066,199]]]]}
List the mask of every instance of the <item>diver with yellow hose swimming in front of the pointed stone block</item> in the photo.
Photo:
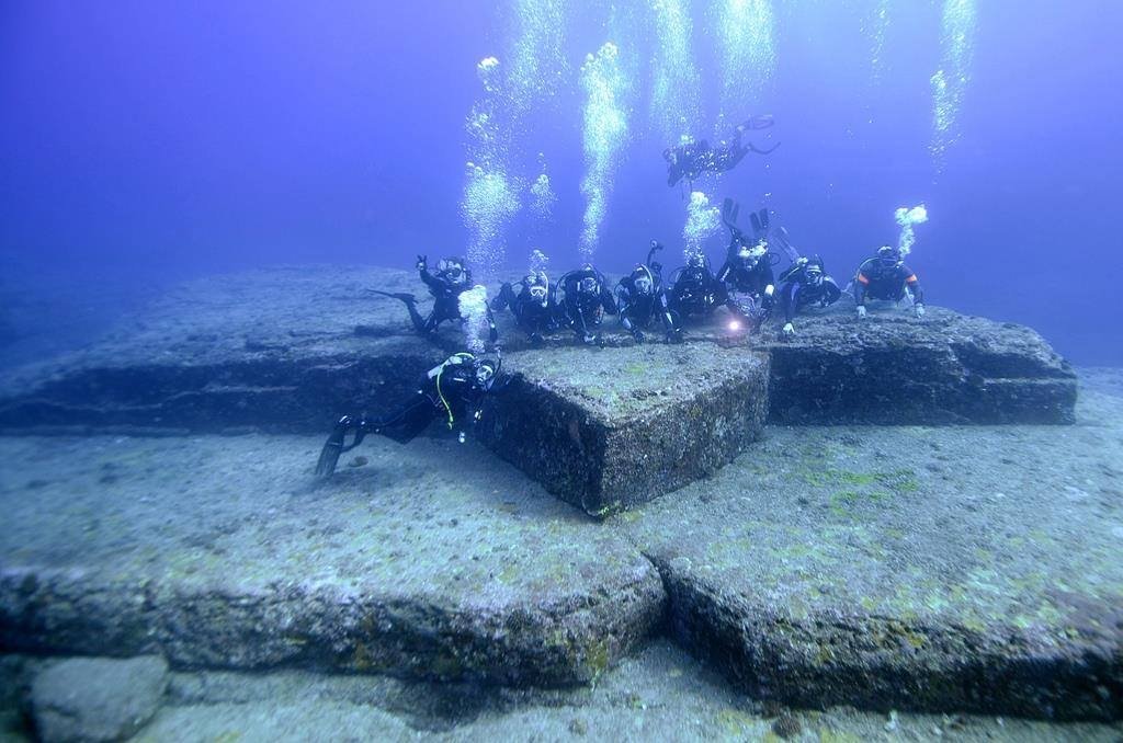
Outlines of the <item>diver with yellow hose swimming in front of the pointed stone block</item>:
{"type": "Polygon", "coordinates": [[[486,396],[502,391],[510,376],[500,375],[501,359],[477,358],[472,354],[454,354],[439,366],[429,369],[420,388],[384,418],[344,415],[328,437],[316,464],[317,477],[328,477],[336,470],[339,455],[350,451],[368,433],[377,433],[399,443],[409,443],[438,418],[445,418],[449,430],[459,429],[457,439],[465,440],[465,429],[482,418],[486,396]],[[345,444],[348,433],[354,440],[345,444]]]}

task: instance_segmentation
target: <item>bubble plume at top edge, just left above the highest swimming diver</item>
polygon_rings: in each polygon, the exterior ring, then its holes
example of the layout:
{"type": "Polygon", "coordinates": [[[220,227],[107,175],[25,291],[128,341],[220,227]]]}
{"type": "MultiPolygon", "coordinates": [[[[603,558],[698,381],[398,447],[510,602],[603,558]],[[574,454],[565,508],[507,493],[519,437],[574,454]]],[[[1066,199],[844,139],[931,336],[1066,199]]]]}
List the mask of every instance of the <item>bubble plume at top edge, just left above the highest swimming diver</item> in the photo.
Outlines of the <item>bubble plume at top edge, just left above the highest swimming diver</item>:
{"type": "Polygon", "coordinates": [[[651,0],[657,46],[651,73],[651,120],[668,146],[701,120],[701,81],[691,54],[687,0],[651,0]]]}

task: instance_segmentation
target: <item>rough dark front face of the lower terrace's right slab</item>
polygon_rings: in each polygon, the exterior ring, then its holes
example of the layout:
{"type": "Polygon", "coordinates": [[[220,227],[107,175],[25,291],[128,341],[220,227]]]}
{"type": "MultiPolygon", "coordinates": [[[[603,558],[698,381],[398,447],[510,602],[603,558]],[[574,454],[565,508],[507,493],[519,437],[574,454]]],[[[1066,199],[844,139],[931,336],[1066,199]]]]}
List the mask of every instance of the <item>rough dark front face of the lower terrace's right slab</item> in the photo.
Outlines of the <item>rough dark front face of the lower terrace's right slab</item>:
{"type": "Polygon", "coordinates": [[[1121,627],[1056,642],[1014,626],[832,612],[793,617],[660,562],[676,642],[746,692],[797,707],[1123,717],[1121,627]]]}

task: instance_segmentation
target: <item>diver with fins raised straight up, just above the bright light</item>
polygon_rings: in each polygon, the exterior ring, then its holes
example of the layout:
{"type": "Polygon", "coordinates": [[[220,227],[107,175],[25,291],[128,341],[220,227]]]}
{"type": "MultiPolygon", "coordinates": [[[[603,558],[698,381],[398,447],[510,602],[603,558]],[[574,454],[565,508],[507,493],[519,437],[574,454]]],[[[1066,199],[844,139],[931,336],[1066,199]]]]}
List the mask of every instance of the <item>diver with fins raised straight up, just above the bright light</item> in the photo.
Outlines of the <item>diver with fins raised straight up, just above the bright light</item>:
{"type": "Polygon", "coordinates": [[[718,272],[718,281],[725,285],[725,306],[749,323],[751,332],[772,314],[776,303],[776,277],[773,265],[779,256],[768,250],[768,210],[750,215],[754,238],[749,239],[737,227],[740,208],[730,199],[722,204],[722,221],[729,228],[729,254],[718,272]]]}

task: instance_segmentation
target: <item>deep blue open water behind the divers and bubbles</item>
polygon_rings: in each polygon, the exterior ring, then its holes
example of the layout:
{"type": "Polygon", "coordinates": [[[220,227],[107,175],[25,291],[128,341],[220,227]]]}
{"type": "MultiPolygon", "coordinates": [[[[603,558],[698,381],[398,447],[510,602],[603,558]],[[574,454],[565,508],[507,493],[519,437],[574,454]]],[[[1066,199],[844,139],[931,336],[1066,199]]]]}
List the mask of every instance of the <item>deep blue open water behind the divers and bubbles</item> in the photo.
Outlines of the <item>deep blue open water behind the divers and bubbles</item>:
{"type": "MultiPolygon", "coordinates": [[[[584,208],[575,70],[609,38],[601,3],[574,4],[567,89],[532,118],[527,158],[546,154],[558,192],[541,240],[556,269],[576,260],[584,208]]],[[[694,48],[712,116],[702,4],[694,48]]],[[[923,201],[911,263],[932,303],[1032,324],[1077,363],[1123,365],[1123,3],[980,2],[962,138],[940,176],[928,153],[940,3],[891,4],[878,85],[862,31],[876,4],[776,3],[776,72],[740,113],[774,113],[783,145],[714,195],[767,203],[840,278],[896,239],[894,208],[923,201]]],[[[463,125],[476,62],[509,46],[506,17],[450,1],[0,2],[0,292],[42,288],[51,329],[101,290],[463,253],[463,125]]],[[[626,54],[648,43],[613,40],[626,54]]],[[[642,82],[605,269],[682,231],[642,82]]],[[[509,238],[522,265],[528,238],[509,238]]]]}

